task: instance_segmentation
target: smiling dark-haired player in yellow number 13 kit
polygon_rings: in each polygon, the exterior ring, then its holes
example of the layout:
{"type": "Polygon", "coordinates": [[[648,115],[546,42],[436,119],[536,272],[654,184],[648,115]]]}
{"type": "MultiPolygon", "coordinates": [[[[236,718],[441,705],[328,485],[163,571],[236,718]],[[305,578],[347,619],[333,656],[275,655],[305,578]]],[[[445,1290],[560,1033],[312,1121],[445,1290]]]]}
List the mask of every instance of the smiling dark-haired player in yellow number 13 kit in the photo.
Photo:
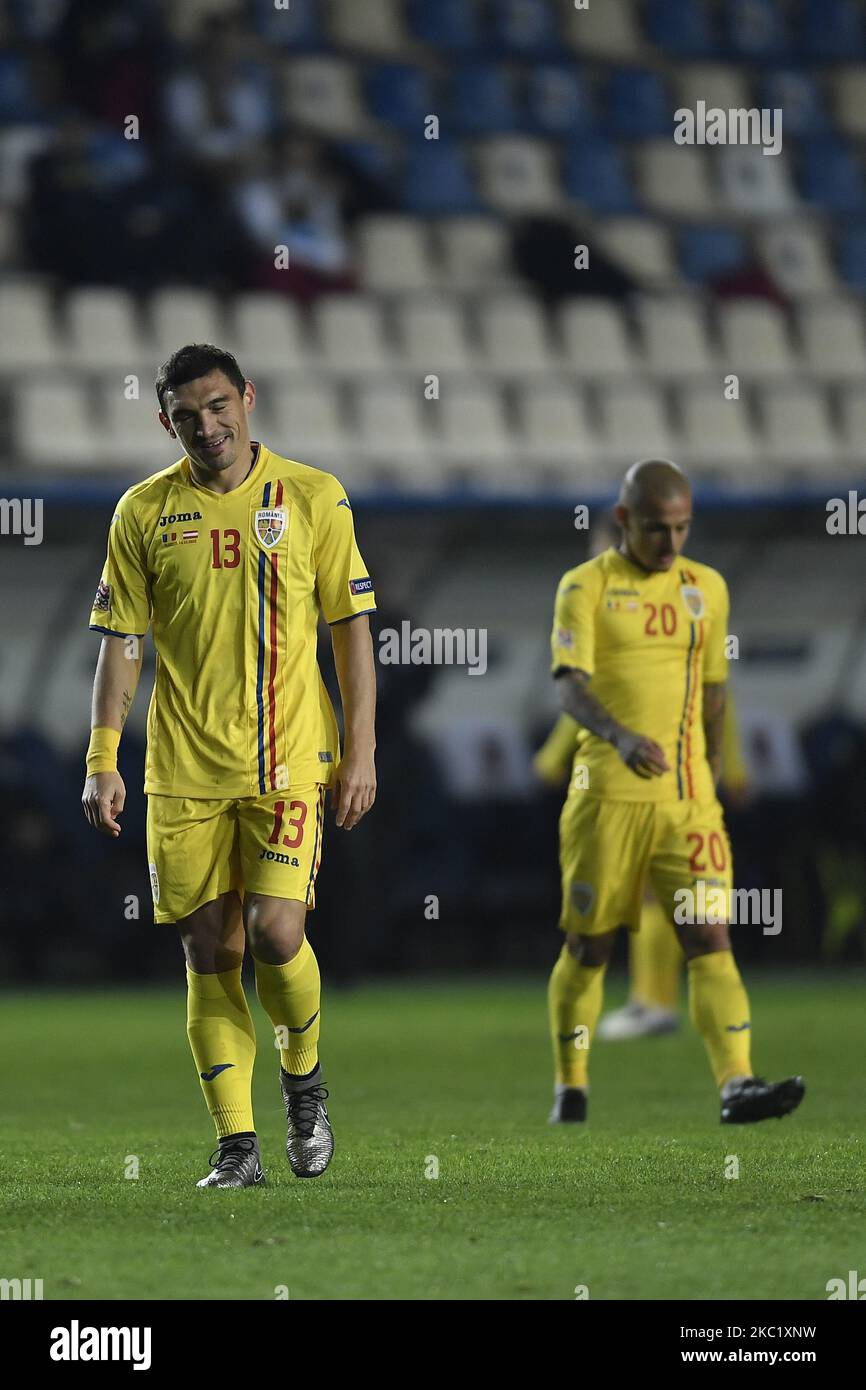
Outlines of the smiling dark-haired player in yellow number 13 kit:
{"type": "Polygon", "coordinates": [[[263,1182],[253,1123],[256,1030],[240,967],[275,1030],[286,1154],[317,1177],[334,1151],[318,1062],[320,974],[304,935],[325,788],[352,830],[375,798],[373,581],[328,473],[250,439],[256,389],[231,353],[175,352],[156,381],[185,450],[117,505],[90,627],[103,634],[82,803],[120,835],[117,749],[152,628],[147,858],[154,917],[186,956],[188,1036],[218,1150],[199,1187],[263,1182]],[[316,660],[329,624],[345,748],[316,660]]]}

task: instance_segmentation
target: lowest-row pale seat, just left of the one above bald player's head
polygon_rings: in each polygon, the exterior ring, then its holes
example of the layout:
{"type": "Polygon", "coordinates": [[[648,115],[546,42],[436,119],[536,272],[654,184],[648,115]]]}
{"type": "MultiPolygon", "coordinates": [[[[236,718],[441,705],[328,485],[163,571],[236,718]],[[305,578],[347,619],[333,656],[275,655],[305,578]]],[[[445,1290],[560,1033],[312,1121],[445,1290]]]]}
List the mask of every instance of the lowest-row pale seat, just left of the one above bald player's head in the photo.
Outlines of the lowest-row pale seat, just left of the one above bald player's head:
{"type": "Polygon", "coordinates": [[[518,453],[574,485],[598,467],[598,439],[584,393],[567,382],[523,385],[516,393],[518,453]]]}

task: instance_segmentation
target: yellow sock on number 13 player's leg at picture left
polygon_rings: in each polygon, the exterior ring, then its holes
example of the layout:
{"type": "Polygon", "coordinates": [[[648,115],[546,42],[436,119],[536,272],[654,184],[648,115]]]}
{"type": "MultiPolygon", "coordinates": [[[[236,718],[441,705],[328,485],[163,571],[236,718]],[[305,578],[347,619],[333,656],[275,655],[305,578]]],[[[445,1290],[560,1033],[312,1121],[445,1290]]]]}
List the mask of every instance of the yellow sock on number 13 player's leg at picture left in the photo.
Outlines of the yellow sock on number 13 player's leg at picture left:
{"type": "Polygon", "coordinates": [[[256,1029],[240,984],[240,966],[220,974],[186,967],[186,1036],[217,1138],[250,1133],[256,1029]]]}

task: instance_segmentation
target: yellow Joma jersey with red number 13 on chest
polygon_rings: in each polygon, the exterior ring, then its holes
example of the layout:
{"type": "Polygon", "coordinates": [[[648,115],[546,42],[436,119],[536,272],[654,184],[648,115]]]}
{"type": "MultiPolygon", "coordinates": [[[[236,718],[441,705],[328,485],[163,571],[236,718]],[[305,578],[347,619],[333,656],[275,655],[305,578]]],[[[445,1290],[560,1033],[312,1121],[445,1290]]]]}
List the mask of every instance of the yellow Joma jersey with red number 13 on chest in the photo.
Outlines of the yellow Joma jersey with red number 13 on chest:
{"type": "Polygon", "coordinates": [[[339,623],[374,609],[331,474],[256,445],[231,492],[197,484],[186,457],[136,482],[111,521],[90,627],[153,630],[145,791],[225,798],[329,784],[339,735],[316,660],[318,614],[339,623]]]}

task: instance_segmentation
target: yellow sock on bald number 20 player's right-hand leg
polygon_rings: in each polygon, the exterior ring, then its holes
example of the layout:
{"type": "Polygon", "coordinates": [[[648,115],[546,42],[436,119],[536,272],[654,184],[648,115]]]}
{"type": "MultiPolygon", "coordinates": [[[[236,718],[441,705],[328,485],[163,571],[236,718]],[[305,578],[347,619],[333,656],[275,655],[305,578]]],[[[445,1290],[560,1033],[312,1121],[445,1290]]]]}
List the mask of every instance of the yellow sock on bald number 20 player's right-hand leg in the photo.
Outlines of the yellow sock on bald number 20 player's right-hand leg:
{"type": "Polygon", "coordinates": [[[719,1087],[752,1076],[749,999],[730,951],[688,962],[691,1020],[702,1036],[719,1087]]]}

